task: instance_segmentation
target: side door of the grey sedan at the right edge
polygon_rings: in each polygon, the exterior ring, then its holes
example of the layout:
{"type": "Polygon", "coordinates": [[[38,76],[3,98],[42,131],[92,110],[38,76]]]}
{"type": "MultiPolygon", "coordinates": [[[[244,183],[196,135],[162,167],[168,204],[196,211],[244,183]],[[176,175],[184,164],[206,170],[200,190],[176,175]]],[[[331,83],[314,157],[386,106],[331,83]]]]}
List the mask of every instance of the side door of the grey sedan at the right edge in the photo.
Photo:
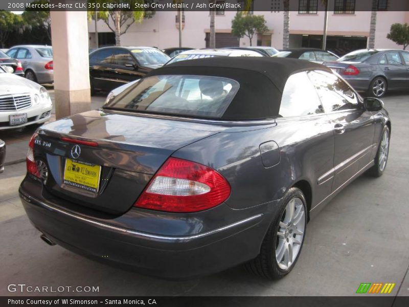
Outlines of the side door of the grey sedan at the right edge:
{"type": "Polygon", "coordinates": [[[379,68],[388,80],[389,89],[405,87],[407,79],[406,65],[403,64],[399,51],[385,53],[387,63],[379,62],[379,68]]]}

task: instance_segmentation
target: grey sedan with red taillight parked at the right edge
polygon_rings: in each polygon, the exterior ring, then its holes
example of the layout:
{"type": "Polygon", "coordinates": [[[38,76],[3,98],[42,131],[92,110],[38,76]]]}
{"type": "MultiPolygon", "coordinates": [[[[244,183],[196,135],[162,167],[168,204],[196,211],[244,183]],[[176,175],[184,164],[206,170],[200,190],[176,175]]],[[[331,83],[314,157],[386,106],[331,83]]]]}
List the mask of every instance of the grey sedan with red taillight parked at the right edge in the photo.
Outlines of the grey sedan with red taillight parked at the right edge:
{"type": "Polygon", "coordinates": [[[362,49],[325,65],[342,75],[357,91],[382,97],[388,90],[409,87],[409,52],[362,49]]]}

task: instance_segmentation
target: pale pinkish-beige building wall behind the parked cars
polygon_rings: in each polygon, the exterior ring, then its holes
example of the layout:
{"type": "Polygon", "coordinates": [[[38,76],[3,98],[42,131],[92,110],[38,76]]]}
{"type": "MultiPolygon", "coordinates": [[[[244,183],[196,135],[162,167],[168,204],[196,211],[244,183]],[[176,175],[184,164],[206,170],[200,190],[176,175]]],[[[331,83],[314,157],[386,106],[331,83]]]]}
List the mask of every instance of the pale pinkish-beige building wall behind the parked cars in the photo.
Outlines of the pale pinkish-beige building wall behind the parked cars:
{"type": "MultiPolygon", "coordinates": [[[[216,16],[216,32],[226,32],[231,29],[231,21],[236,12],[225,12],[224,16],[216,16]]],[[[254,12],[264,15],[267,27],[274,32],[271,45],[282,48],[283,41],[283,13],[282,12],[254,12]]],[[[153,18],[144,19],[142,24],[132,25],[127,33],[121,36],[123,46],[156,46],[160,49],[178,46],[178,30],[175,26],[176,12],[156,12],[153,18]]],[[[328,13],[328,35],[368,36],[371,12],[357,11],[352,15],[337,15],[328,13]]],[[[375,48],[400,48],[387,39],[393,23],[409,23],[409,12],[379,11],[375,35],[375,48]]],[[[324,12],[314,15],[300,15],[290,12],[291,34],[322,35],[324,12]]],[[[183,30],[183,46],[205,48],[205,33],[209,29],[210,15],[208,12],[186,12],[185,29],[183,30]]],[[[108,27],[98,22],[100,32],[109,32],[108,27]]],[[[89,32],[94,32],[94,21],[90,21],[89,32]]],[[[93,47],[94,35],[90,34],[90,47],[93,47]]],[[[257,35],[253,38],[253,45],[257,43],[257,35]]],[[[249,46],[247,37],[240,39],[240,46],[249,46]]]]}

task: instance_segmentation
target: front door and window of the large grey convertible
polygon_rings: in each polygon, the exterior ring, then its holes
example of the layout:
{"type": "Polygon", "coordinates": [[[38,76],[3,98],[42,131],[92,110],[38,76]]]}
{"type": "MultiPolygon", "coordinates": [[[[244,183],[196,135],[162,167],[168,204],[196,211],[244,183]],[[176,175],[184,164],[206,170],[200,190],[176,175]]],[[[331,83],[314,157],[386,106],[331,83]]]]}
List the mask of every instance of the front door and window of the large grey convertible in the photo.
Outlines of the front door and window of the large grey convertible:
{"type": "Polygon", "coordinates": [[[374,120],[345,81],[324,71],[313,71],[309,76],[333,125],[335,191],[370,163],[374,120]]]}

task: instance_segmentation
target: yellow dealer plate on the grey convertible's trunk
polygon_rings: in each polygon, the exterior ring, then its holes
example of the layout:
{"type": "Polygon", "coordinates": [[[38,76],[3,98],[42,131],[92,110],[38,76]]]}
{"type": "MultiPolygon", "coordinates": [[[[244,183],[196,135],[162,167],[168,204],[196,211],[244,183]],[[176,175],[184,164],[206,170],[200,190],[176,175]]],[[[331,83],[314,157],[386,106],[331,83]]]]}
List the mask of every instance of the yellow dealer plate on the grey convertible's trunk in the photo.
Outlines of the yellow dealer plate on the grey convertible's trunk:
{"type": "Polygon", "coordinates": [[[65,159],[64,183],[88,191],[98,192],[101,166],[65,159]]]}

